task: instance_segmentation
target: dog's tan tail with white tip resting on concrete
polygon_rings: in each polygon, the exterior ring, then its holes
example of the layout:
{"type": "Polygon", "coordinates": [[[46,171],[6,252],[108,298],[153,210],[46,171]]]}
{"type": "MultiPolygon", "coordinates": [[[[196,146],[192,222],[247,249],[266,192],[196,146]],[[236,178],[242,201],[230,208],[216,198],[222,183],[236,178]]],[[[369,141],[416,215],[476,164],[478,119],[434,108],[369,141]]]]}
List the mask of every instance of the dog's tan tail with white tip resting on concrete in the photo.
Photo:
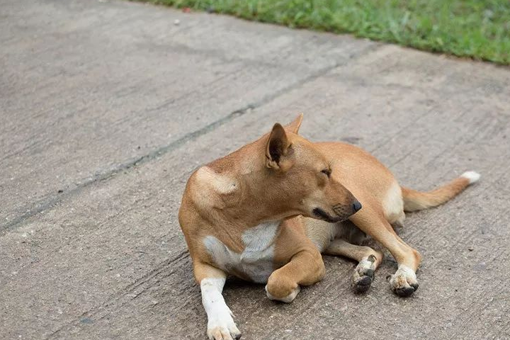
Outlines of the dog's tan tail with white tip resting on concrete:
{"type": "Polygon", "coordinates": [[[433,191],[421,193],[402,186],[402,198],[404,198],[405,211],[417,211],[426,208],[436,207],[454,198],[467,186],[477,182],[480,174],[475,171],[466,171],[457,179],[441,186],[433,191]]]}

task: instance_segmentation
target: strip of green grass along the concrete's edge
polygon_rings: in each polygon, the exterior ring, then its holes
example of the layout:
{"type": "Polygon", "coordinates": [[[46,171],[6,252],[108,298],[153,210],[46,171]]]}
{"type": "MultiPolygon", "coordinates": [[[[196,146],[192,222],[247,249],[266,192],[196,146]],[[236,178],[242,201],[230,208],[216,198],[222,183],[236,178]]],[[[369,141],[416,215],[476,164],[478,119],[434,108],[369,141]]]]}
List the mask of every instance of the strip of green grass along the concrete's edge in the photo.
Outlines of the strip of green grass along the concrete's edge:
{"type": "Polygon", "coordinates": [[[145,0],[510,64],[509,0],[145,0]]]}

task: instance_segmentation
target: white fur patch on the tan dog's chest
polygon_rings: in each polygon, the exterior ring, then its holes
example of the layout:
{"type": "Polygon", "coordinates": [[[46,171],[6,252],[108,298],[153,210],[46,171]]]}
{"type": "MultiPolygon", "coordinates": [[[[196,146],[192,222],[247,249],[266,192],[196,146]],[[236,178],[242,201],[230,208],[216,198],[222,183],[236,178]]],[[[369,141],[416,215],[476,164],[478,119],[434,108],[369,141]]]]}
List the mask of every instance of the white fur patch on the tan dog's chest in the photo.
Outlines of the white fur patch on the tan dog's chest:
{"type": "Polygon", "coordinates": [[[242,234],[244,251],[239,254],[229,249],[214,236],[205,237],[203,243],[216,266],[230,273],[238,271],[256,283],[266,283],[273,273],[273,256],[280,221],[262,223],[242,234]]]}

